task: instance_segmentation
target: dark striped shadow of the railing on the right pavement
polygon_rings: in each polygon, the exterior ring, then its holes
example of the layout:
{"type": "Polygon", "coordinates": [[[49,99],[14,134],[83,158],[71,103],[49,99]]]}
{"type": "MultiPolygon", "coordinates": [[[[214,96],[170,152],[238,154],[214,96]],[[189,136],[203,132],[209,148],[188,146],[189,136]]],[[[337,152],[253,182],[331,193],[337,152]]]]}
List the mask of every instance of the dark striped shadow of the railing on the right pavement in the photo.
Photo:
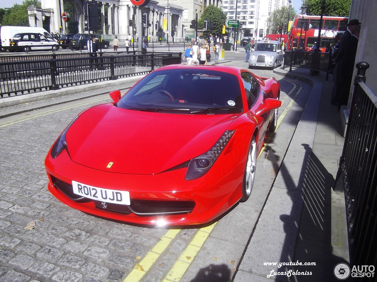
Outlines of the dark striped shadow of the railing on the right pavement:
{"type": "MultiPolygon", "coordinates": [[[[337,206],[332,206],[331,193],[334,183],[333,176],[319,161],[317,156],[311,152],[308,144],[302,144],[307,154],[303,159],[299,187],[292,187],[294,180],[284,161],[280,167],[280,173],[287,187],[287,194],[291,197],[291,214],[280,215],[280,220],[284,222],[285,242],[282,247],[280,262],[315,262],[315,265],[282,266],[279,271],[300,273],[311,272],[312,275],[294,275],[294,277],[277,276],[275,281],[338,281],[334,276],[334,267],[340,262],[349,265],[342,256],[342,232],[340,224],[340,212],[337,214],[337,206]],[[309,154],[310,153],[310,154],[309,154]],[[302,191],[303,201],[297,201],[297,191],[302,191]],[[335,209],[335,213],[331,209],[335,209]],[[300,219],[297,217],[300,212],[300,219]],[[335,214],[335,215],[334,215],[335,214]],[[299,221],[298,221],[299,220],[299,221]],[[296,246],[292,253],[292,236],[298,232],[296,246]],[[332,235],[333,232],[333,235],[332,235]],[[334,249],[339,246],[339,249],[334,249]],[[283,269],[285,268],[285,269],[283,269]]],[[[348,256],[348,255],[347,255],[348,256]]],[[[345,281],[350,281],[350,277],[345,281]]]]}

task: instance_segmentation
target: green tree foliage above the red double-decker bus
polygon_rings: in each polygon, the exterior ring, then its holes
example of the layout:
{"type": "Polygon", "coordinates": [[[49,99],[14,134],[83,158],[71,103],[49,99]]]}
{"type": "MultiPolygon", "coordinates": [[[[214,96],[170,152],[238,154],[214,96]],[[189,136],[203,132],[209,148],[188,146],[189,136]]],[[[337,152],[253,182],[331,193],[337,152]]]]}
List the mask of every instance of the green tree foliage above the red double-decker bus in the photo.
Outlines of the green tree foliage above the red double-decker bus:
{"type": "MultiPolygon", "coordinates": [[[[308,15],[321,14],[322,0],[305,0],[308,15]]],[[[351,0],[326,0],[324,16],[348,17],[351,0]]]]}

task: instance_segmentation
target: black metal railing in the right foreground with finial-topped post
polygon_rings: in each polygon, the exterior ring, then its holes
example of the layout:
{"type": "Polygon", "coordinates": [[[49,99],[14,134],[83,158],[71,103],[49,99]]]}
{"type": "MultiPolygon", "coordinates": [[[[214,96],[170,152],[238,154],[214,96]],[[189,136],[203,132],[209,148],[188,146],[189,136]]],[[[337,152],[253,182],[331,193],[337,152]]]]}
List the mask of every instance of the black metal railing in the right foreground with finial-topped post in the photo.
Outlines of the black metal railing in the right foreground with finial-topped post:
{"type": "MultiPolygon", "coordinates": [[[[344,189],[351,265],[377,263],[377,96],[357,65],[355,88],[336,185],[344,189]]],[[[339,187],[338,186],[338,187],[339,187]]],[[[375,281],[363,277],[363,281],[375,281]]]]}

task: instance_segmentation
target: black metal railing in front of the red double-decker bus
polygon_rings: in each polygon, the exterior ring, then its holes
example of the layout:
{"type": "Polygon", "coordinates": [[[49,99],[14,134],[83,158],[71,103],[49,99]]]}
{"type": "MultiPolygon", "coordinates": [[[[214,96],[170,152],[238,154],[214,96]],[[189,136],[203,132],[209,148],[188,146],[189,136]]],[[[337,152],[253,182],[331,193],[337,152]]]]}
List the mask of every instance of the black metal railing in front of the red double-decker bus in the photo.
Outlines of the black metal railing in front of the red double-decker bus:
{"type": "Polygon", "coordinates": [[[289,71],[292,67],[306,68],[313,71],[324,71],[326,73],[326,80],[328,80],[328,69],[330,63],[330,53],[322,52],[302,52],[302,51],[285,51],[284,65],[289,66],[289,71]]]}

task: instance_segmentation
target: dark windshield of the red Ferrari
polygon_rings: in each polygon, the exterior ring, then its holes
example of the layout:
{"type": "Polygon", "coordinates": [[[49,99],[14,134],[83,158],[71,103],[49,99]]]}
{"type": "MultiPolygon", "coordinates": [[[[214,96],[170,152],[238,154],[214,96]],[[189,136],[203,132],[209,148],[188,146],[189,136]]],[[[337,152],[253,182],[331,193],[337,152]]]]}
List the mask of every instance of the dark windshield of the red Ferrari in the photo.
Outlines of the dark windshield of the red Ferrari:
{"type": "Polygon", "coordinates": [[[130,89],[117,106],[182,114],[229,114],[243,109],[237,76],[201,68],[151,73],[130,89]]]}

